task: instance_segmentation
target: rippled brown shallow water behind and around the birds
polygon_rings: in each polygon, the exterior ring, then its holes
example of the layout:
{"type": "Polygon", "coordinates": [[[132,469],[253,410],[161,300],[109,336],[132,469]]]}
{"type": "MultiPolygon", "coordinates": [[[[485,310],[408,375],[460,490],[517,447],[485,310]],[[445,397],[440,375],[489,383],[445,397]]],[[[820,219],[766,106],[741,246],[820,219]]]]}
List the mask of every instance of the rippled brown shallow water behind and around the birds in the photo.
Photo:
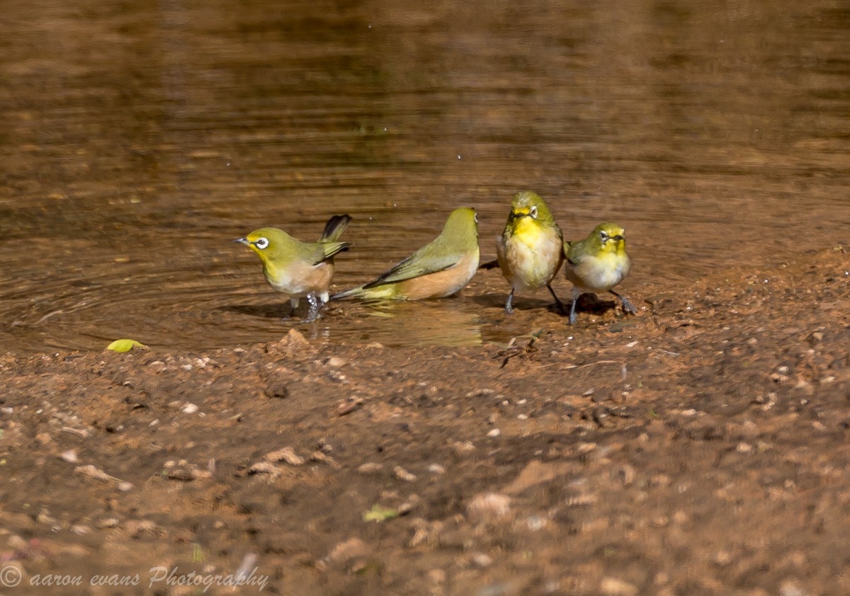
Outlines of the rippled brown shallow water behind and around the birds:
{"type": "MultiPolygon", "coordinates": [[[[525,188],[570,238],[626,228],[636,304],[649,282],[850,243],[845,3],[73,4],[13,0],[0,21],[0,349],[275,340],[286,299],[231,239],[309,239],[348,212],[343,288],[459,205],[494,256],[525,188]]],[[[482,273],[456,299],[303,330],[528,332],[505,294],[482,273]]]]}

